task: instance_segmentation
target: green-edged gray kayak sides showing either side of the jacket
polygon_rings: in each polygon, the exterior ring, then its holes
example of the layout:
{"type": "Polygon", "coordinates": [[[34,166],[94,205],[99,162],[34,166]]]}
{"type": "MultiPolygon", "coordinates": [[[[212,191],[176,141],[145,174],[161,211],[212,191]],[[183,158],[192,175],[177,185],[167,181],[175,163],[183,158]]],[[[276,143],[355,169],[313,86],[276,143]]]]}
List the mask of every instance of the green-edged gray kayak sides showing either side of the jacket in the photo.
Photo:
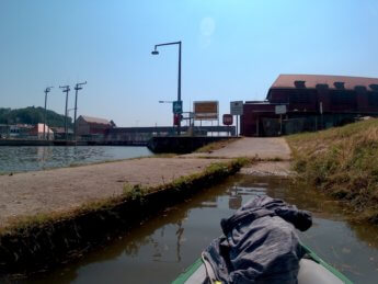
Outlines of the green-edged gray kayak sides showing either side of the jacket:
{"type": "MultiPolygon", "coordinates": [[[[310,248],[301,243],[306,255],[299,262],[298,284],[336,284],[353,283],[335,268],[319,258],[310,248]]],[[[198,284],[206,280],[206,269],[202,259],[197,259],[173,284],[198,284]]]]}

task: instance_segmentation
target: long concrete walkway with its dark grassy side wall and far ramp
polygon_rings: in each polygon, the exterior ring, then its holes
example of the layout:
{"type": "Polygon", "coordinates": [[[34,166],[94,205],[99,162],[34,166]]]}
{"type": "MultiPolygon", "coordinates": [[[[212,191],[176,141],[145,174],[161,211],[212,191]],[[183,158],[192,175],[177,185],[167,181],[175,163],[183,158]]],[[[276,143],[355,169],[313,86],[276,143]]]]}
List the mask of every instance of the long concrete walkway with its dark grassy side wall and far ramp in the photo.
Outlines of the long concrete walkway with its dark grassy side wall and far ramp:
{"type": "Polygon", "coordinates": [[[0,274],[34,272],[78,258],[262,160],[259,157],[280,161],[279,145],[283,158],[288,158],[282,138],[245,138],[202,157],[141,158],[1,175],[0,274]]]}

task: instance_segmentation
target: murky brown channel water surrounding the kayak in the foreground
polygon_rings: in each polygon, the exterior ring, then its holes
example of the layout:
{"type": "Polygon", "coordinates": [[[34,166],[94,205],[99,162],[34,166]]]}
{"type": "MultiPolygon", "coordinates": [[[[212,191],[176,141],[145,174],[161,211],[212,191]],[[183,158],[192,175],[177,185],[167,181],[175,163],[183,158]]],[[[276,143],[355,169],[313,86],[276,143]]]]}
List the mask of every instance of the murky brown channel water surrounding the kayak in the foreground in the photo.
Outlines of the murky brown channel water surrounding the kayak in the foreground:
{"type": "Polygon", "coordinates": [[[267,194],[313,212],[300,238],[356,283],[377,283],[378,228],[353,226],[337,202],[287,181],[237,175],[177,204],[83,259],[27,283],[170,283],[220,236],[219,221],[251,197],[267,194]]]}

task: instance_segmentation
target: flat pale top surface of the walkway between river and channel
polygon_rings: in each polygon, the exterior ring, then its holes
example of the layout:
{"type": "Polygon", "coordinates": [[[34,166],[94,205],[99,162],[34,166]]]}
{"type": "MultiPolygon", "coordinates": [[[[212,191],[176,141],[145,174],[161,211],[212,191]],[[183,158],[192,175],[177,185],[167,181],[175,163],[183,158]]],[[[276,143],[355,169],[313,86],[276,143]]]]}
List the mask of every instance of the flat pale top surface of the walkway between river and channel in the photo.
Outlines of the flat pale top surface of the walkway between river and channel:
{"type": "Polygon", "coordinates": [[[0,227],[7,219],[67,211],[121,194],[124,184],[159,185],[201,172],[213,159],[145,158],[0,175],[0,227]]]}

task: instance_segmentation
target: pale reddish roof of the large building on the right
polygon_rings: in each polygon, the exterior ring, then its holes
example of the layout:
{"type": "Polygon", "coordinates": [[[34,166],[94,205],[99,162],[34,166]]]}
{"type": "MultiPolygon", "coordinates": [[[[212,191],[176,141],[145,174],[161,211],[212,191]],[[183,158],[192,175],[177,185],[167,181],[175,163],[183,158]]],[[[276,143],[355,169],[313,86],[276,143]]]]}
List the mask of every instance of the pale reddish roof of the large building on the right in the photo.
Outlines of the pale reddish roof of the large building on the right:
{"type": "Polygon", "coordinates": [[[329,89],[336,89],[334,83],[343,83],[345,90],[354,90],[355,87],[364,86],[371,91],[371,86],[378,88],[378,78],[350,77],[350,76],[329,76],[329,75],[279,75],[271,89],[296,88],[296,83],[305,83],[306,88],[317,88],[317,84],[328,84],[329,89]]]}

